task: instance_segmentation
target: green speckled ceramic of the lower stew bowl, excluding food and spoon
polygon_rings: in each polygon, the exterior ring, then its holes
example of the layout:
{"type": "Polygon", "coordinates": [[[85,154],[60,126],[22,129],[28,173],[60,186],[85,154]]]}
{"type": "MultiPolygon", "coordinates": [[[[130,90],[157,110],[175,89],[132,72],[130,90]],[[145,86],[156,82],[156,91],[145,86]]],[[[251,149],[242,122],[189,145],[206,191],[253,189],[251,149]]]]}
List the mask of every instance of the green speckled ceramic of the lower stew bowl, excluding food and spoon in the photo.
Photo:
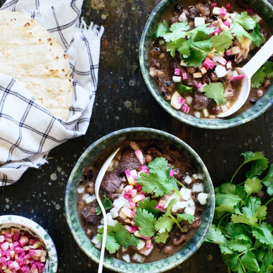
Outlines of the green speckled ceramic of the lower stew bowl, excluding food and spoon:
{"type": "Polygon", "coordinates": [[[83,170],[90,164],[90,162],[102,151],[108,150],[109,154],[113,151],[114,145],[126,139],[133,139],[136,137],[157,138],[165,143],[171,143],[176,146],[178,150],[183,152],[189,161],[196,167],[196,169],[204,174],[205,192],[208,193],[207,204],[205,205],[203,221],[200,228],[197,230],[195,236],[188,242],[188,244],[173,256],[153,263],[147,264],[127,264],[117,259],[113,259],[107,255],[104,257],[104,267],[116,272],[144,272],[144,273],[159,273],[176,267],[180,263],[187,260],[193,255],[205,240],[206,234],[209,230],[214,213],[214,190],[211,179],[199,155],[185,142],[176,136],[168,133],[148,129],[148,128],[129,128],[116,131],[107,136],[104,136],[89,146],[77,161],[75,167],[68,180],[66,189],[66,216],[68,226],[71,233],[81,250],[96,263],[99,262],[100,251],[96,249],[89,238],[85,235],[82,229],[76,210],[76,190],[78,181],[81,178],[83,170]]]}

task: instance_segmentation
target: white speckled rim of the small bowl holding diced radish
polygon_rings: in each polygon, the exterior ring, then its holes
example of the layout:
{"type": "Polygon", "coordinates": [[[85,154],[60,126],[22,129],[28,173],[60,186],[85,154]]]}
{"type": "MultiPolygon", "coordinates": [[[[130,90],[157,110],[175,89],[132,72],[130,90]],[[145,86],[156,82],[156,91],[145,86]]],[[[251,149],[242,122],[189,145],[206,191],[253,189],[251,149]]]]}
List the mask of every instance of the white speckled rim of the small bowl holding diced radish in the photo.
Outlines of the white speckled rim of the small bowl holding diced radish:
{"type": "Polygon", "coordinates": [[[58,269],[57,250],[50,235],[46,232],[46,230],[43,227],[41,227],[38,223],[19,215],[1,215],[0,228],[2,225],[13,226],[21,225],[24,226],[26,229],[29,229],[33,234],[39,237],[47,248],[49,257],[48,273],[57,273],[58,269]]]}

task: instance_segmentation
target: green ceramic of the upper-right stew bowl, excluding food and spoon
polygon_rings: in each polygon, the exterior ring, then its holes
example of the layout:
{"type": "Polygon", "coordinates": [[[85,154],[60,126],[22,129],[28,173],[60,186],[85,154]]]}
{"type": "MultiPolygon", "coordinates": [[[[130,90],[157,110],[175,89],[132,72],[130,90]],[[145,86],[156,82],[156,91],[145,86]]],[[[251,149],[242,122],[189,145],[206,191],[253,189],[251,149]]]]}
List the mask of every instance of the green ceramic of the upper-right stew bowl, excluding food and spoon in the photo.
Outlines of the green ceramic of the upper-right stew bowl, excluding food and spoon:
{"type": "MultiPolygon", "coordinates": [[[[273,104],[273,85],[270,86],[267,93],[263,96],[261,100],[250,109],[227,119],[216,119],[216,120],[209,120],[209,119],[197,119],[190,115],[184,114],[179,112],[171,107],[171,105],[164,100],[164,98],[159,94],[157,88],[149,75],[149,68],[147,62],[147,48],[149,44],[149,39],[152,34],[152,30],[160,19],[161,15],[164,11],[172,5],[177,0],[162,0],[152,11],[150,17],[147,20],[147,23],[144,27],[140,45],[139,45],[139,62],[140,68],[142,71],[142,75],[144,81],[150,90],[153,97],[156,101],[174,118],[178,119],[179,121],[185,122],[189,125],[193,125],[200,128],[207,128],[207,129],[224,129],[229,127],[234,127],[240,124],[244,124],[248,121],[251,121],[261,114],[263,114],[270,106],[273,104]]],[[[194,1],[196,2],[196,0],[194,1]]],[[[247,0],[255,10],[261,14],[264,18],[266,18],[269,26],[273,27],[273,6],[267,0],[247,0]]]]}

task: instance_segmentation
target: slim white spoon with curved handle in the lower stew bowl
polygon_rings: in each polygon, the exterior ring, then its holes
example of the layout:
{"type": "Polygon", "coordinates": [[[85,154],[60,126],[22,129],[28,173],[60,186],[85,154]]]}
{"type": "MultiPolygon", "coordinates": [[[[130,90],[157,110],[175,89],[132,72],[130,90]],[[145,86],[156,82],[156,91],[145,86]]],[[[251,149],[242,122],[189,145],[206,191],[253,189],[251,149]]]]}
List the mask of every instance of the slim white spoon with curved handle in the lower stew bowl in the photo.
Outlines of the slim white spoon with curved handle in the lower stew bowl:
{"type": "Polygon", "coordinates": [[[100,196],[99,196],[99,189],[100,189],[100,184],[101,181],[106,173],[107,168],[109,167],[111,161],[117,154],[117,152],[120,150],[120,148],[116,149],[104,162],[102,165],[99,174],[97,176],[96,182],[95,182],[95,195],[97,202],[101,208],[102,215],[103,215],[103,238],[102,238],[102,244],[101,244],[101,251],[100,251],[100,262],[99,262],[99,269],[98,273],[102,273],[102,268],[103,268],[103,258],[104,258],[104,250],[105,250],[105,242],[106,242],[106,234],[107,234],[107,217],[106,217],[106,211],[101,203],[100,196]]]}

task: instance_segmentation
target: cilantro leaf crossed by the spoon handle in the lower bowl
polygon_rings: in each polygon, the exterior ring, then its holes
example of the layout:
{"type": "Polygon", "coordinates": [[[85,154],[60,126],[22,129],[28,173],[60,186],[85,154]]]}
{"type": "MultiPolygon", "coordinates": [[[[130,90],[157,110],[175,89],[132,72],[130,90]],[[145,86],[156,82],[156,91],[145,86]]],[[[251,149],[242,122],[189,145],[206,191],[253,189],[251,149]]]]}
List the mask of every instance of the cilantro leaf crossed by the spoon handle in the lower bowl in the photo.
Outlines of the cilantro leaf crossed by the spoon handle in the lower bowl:
{"type": "MultiPolygon", "coordinates": [[[[100,242],[103,238],[103,227],[98,229],[96,237],[100,242]]],[[[117,222],[114,227],[107,226],[105,247],[109,253],[115,253],[120,247],[128,248],[128,246],[137,246],[139,239],[126,230],[125,226],[117,222]]]]}

